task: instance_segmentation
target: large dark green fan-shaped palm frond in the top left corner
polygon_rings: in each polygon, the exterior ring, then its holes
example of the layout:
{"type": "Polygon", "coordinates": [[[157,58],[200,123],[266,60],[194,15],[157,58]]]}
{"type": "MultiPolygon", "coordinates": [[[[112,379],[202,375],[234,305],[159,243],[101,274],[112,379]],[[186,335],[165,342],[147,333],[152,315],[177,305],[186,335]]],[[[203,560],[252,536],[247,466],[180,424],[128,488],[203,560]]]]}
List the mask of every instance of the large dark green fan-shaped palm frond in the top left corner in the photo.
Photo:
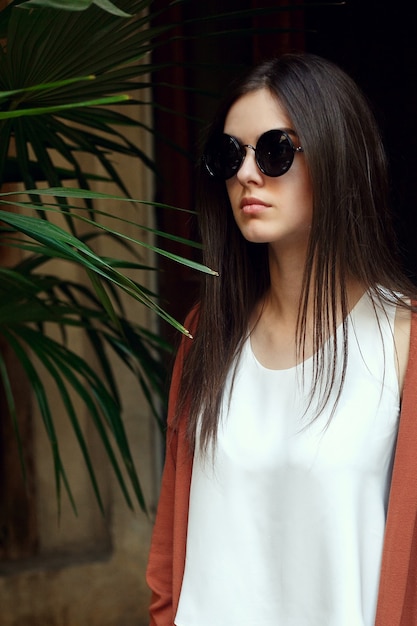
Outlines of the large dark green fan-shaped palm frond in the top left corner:
{"type": "MultiPolygon", "coordinates": [[[[61,154],[81,188],[89,186],[89,177],[79,165],[83,153],[97,158],[125,194],[112,154],[128,154],[153,167],[146,152],[118,132],[122,117],[110,119],[105,109],[97,108],[128,102],[132,79],[148,74],[149,67],[142,67],[141,61],[149,54],[152,32],[144,28],[149,17],[140,12],[150,2],[125,3],[132,13],[139,12],[130,20],[102,11],[104,6],[97,3],[88,4],[89,10],[81,12],[18,7],[9,14],[7,43],[0,47],[0,182],[7,182],[5,164],[12,136],[27,187],[36,186],[38,179],[50,186],[63,184],[64,172],[53,167],[51,151],[61,154]],[[50,49],[53,55],[48,54],[50,49]],[[77,119],[76,112],[83,109],[90,110],[89,119],[77,119]],[[30,148],[37,170],[27,157],[30,148]]],[[[124,116],[123,124],[141,126],[129,116],[124,116]]]]}

